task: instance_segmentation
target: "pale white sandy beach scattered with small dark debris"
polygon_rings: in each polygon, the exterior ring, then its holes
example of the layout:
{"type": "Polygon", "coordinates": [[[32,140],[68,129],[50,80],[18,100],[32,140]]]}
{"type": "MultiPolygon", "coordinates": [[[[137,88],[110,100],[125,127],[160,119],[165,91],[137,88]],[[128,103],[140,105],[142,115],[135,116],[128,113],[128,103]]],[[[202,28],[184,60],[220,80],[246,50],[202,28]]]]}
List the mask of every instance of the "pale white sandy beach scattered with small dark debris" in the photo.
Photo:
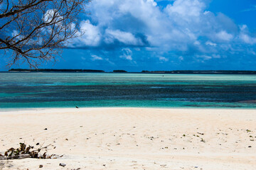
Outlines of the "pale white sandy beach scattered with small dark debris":
{"type": "Polygon", "coordinates": [[[1,152],[39,142],[65,154],[1,161],[0,169],[256,169],[256,110],[0,111],[0,129],[1,152]]]}

